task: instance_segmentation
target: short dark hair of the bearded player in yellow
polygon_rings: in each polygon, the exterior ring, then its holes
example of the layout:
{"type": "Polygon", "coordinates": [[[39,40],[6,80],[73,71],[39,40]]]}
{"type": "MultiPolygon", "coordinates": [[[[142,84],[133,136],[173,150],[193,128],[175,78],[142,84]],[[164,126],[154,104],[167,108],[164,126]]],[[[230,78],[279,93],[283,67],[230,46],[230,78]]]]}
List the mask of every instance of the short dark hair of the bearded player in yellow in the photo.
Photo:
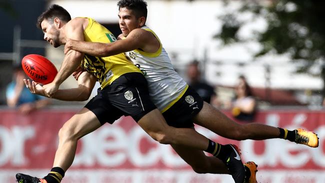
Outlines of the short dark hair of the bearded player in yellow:
{"type": "Polygon", "coordinates": [[[36,26],[38,28],[41,28],[40,23],[43,20],[48,20],[52,21],[54,20],[55,17],[58,17],[60,20],[68,22],[71,20],[71,16],[67,10],[65,10],[62,6],[59,6],[57,4],[51,5],[46,11],[42,12],[38,18],[37,18],[37,23],[36,26]]]}

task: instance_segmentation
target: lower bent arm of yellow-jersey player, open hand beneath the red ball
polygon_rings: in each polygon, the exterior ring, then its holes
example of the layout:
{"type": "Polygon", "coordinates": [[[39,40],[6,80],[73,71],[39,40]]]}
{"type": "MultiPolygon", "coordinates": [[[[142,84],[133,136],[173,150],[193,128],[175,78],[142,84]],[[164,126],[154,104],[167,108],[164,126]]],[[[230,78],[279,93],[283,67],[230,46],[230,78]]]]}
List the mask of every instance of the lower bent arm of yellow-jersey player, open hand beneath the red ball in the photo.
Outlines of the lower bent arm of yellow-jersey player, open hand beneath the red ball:
{"type": "MultiPolygon", "coordinates": [[[[65,101],[84,101],[87,100],[96,83],[96,77],[89,72],[82,72],[77,79],[78,86],[76,88],[58,89],[51,98],[65,101]]],[[[26,87],[30,92],[46,96],[43,92],[43,86],[35,81],[24,79],[26,87]]]]}

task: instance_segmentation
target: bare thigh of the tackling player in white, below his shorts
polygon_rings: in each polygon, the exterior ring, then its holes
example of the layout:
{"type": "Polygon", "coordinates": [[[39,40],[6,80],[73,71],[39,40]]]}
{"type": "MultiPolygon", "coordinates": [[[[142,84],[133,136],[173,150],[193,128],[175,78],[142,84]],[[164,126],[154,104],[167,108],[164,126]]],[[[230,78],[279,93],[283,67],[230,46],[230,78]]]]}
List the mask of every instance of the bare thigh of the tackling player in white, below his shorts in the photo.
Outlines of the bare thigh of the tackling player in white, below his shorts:
{"type": "Polygon", "coordinates": [[[205,101],[202,109],[194,117],[194,122],[224,137],[231,135],[231,132],[240,131],[242,128],[241,124],[231,120],[205,101]]]}

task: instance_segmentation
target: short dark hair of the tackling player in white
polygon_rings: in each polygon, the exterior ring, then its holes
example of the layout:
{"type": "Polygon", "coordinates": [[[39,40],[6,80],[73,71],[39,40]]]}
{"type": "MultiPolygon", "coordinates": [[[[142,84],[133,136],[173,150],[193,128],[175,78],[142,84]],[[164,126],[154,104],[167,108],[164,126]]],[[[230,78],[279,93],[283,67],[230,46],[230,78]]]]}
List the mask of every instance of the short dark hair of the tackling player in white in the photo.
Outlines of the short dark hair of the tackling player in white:
{"type": "Polygon", "coordinates": [[[146,2],[143,0],[120,0],[117,2],[118,9],[126,7],[127,9],[131,9],[137,18],[144,16],[145,19],[148,13],[146,5],[146,2]]]}

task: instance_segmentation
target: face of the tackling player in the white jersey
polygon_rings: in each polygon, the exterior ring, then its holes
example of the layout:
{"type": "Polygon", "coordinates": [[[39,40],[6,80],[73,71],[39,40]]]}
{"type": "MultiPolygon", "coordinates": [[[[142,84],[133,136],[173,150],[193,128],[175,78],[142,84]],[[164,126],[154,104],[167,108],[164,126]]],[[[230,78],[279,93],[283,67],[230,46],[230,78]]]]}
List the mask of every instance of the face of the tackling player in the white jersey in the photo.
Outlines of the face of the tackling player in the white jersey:
{"type": "Polygon", "coordinates": [[[141,27],[139,18],[132,13],[132,10],[126,7],[121,7],[118,12],[119,28],[122,31],[124,37],[126,37],[130,31],[135,28],[141,27]]]}

